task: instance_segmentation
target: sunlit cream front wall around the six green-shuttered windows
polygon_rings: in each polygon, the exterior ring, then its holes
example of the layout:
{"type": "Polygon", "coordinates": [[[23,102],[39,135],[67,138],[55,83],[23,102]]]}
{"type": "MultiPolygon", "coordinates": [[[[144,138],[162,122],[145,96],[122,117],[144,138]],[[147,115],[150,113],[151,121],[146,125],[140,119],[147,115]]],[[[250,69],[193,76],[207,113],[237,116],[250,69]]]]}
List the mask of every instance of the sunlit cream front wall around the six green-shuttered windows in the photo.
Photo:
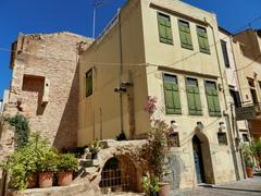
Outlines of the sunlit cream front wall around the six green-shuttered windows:
{"type": "MultiPolygon", "coordinates": [[[[177,132],[181,139],[181,151],[177,152],[182,161],[184,162],[184,172],[181,177],[181,188],[196,186],[197,181],[195,176],[194,155],[191,138],[196,134],[196,124],[198,121],[202,122],[206,126],[203,135],[210,144],[210,155],[206,152],[206,157],[210,157],[212,168],[206,166],[207,175],[211,175],[213,172],[214,182],[221,183],[235,180],[235,172],[232,159],[232,151],[229,146],[220,146],[217,143],[219,123],[226,122],[224,117],[213,118],[209,117],[208,103],[204,91],[204,81],[214,81],[221,85],[221,74],[219,71],[219,61],[215,49],[217,48],[219,60],[221,68],[224,68],[222,60],[221,46],[214,47],[214,39],[212,35],[212,28],[206,24],[208,38],[210,44],[211,54],[199,52],[198,38],[196,33],[196,25],[202,25],[207,20],[213,27],[215,39],[219,40],[219,30],[215,20],[215,15],[196,9],[181,1],[142,1],[142,20],[144,20],[144,37],[145,37],[145,51],[146,61],[148,64],[162,65],[160,70],[156,66],[147,68],[147,79],[149,96],[158,98],[157,118],[165,120],[166,123],[171,123],[175,120],[178,123],[177,132]],[[150,2],[158,5],[158,9],[151,8],[150,2]],[[158,20],[157,12],[162,12],[171,15],[172,33],[174,45],[165,45],[159,41],[158,20]],[[182,13],[184,15],[178,15],[182,13]],[[179,33],[177,20],[185,20],[189,22],[194,50],[183,49],[179,42],[179,33]],[[186,60],[184,60],[186,59],[186,60]],[[164,91],[162,74],[170,73],[177,76],[179,96],[182,102],[182,115],[165,114],[164,91]],[[195,77],[198,79],[200,98],[203,114],[202,115],[189,115],[187,106],[187,94],[185,77],[195,77]],[[212,171],[211,171],[212,170],[212,171]]],[[[223,71],[223,70],[222,70],[223,71]]],[[[222,72],[222,74],[224,71],[222,72]]],[[[224,81],[224,91],[226,93],[226,99],[228,100],[228,87],[224,81]]],[[[223,91],[219,91],[219,99],[222,111],[226,110],[223,91]]],[[[227,124],[228,126],[228,124],[227,124]]],[[[227,132],[227,130],[225,131],[227,132]]],[[[227,139],[228,139],[227,134],[227,139]]],[[[208,164],[208,162],[204,162],[208,164]]]]}

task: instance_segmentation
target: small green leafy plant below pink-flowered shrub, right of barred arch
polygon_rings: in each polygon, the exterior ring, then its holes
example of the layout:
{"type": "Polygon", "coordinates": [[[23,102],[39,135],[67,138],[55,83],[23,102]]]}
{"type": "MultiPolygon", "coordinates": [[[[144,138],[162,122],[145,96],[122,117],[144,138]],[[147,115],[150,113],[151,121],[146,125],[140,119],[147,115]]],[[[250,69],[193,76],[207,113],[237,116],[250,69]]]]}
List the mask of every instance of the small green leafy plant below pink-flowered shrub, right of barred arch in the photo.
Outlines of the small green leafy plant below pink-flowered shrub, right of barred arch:
{"type": "Polygon", "coordinates": [[[141,182],[146,196],[157,195],[160,191],[159,179],[153,174],[151,175],[147,173],[147,175],[142,177],[141,182]]]}

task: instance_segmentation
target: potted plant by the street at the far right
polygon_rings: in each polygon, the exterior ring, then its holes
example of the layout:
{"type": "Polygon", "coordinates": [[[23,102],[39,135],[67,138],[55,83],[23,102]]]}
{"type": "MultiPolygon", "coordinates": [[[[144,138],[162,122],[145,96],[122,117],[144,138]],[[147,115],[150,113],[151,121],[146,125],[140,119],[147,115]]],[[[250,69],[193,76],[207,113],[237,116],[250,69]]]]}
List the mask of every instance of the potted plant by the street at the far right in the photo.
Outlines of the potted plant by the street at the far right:
{"type": "Polygon", "coordinates": [[[248,177],[253,176],[253,161],[252,156],[254,155],[254,148],[251,145],[244,145],[243,155],[246,164],[246,172],[248,177]]]}

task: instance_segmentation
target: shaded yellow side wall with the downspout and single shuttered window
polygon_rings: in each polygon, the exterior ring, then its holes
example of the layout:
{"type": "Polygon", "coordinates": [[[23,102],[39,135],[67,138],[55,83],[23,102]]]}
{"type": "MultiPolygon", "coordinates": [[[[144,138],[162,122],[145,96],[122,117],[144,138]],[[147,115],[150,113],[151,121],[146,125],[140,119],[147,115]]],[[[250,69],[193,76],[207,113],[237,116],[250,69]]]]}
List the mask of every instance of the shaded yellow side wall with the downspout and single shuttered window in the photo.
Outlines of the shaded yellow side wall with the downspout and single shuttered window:
{"type": "MultiPolygon", "coordinates": [[[[148,132],[147,82],[139,2],[123,8],[121,12],[123,82],[133,83],[123,94],[124,132],[135,128],[135,136],[148,132]],[[129,111],[129,107],[134,106],[129,111]]],[[[115,138],[121,133],[119,87],[120,62],[119,25],[99,38],[80,58],[80,100],[78,145],[95,138],[115,138]],[[94,69],[94,94],[85,97],[85,74],[94,69]]]]}

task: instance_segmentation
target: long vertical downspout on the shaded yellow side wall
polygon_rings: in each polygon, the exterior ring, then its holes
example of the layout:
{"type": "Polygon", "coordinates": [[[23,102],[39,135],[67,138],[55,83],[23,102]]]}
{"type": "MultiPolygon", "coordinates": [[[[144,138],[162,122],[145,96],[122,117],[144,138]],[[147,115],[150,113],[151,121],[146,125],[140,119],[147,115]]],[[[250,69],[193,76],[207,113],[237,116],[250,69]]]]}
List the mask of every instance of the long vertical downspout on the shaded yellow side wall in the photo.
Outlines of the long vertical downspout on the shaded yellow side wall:
{"type": "Polygon", "coordinates": [[[124,133],[123,131],[123,95],[122,95],[122,72],[123,72],[123,54],[122,54],[122,27],[121,27],[121,9],[117,9],[117,23],[119,23],[119,52],[120,52],[120,64],[119,64],[119,97],[120,97],[120,127],[121,134],[124,133]]]}

